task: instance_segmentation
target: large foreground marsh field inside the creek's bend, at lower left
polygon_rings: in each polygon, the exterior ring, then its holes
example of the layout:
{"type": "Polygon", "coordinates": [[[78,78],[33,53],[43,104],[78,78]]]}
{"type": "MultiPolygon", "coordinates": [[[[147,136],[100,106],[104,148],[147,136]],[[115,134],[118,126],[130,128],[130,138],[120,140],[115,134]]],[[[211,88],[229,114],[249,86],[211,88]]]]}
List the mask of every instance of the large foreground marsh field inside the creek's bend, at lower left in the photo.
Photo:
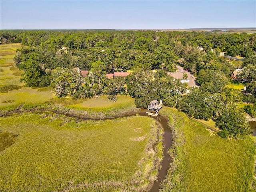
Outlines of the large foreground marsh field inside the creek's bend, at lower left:
{"type": "Polygon", "coordinates": [[[159,135],[152,118],[78,122],[24,113],[0,120],[2,132],[18,135],[0,154],[3,192],[136,191],[156,179],[159,135]]]}

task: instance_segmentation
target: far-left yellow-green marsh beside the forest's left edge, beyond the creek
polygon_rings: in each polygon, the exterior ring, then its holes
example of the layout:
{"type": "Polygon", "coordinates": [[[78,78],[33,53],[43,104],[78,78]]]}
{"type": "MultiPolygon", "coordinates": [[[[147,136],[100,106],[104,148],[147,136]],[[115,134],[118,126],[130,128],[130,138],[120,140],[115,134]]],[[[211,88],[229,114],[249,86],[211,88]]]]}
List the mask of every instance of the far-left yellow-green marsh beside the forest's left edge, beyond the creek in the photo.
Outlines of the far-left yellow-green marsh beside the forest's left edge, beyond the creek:
{"type": "Polygon", "coordinates": [[[50,90],[32,89],[20,82],[23,71],[16,68],[13,58],[20,43],[0,45],[0,109],[8,110],[24,103],[40,104],[53,98],[50,90]],[[12,90],[12,88],[19,89],[12,90]],[[10,88],[10,89],[9,89],[10,88]],[[10,90],[6,92],[6,90],[10,90]]]}

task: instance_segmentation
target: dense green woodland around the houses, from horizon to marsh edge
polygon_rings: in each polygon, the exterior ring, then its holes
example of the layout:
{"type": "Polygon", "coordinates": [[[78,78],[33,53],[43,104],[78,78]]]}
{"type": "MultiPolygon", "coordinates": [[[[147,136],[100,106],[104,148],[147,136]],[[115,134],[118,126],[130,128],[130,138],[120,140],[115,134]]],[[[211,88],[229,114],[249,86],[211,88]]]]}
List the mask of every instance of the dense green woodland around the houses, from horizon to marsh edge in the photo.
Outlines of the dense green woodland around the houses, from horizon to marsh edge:
{"type": "Polygon", "coordinates": [[[10,35],[16,36],[14,40],[6,33],[1,33],[1,39],[2,35],[24,45],[14,61],[25,71],[21,80],[28,86],[51,85],[59,97],[108,94],[115,100],[116,94],[129,94],[141,108],[161,98],[164,105],[177,107],[189,116],[216,121],[222,137],[238,138],[250,132],[244,115],[240,115],[243,111],[235,103],[255,98],[256,34],[26,31],[10,35]],[[200,46],[203,50],[198,49],[200,46]],[[244,62],[220,57],[223,51],[244,56],[244,62]],[[167,75],[177,64],[195,74],[200,88],[184,94],[187,85],[167,75]],[[82,78],[73,68],[90,72],[82,78]],[[238,79],[246,81],[244,96],[225,86],[236,68],[240,69],[238,79]],[[157,72],[152,73],[153,69],[157,72]],[[106,78],[113,70],[133,72],[125,79],[106,78]]]}

